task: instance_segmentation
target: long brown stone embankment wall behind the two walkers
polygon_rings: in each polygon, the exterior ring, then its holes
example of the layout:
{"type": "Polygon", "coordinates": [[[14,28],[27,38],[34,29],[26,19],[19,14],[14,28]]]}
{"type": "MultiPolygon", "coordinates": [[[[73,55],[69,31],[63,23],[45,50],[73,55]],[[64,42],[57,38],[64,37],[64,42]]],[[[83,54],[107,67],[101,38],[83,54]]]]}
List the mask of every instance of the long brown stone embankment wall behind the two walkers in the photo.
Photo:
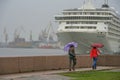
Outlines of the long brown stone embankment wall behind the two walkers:
{"type": "MultiPolygon", "coordinates": [[[[99,66],[120,66],[120,55],[101,55],[99,66]]],[[[89,55],[77,56],[77,68],[91,67],[89,55]]],[[[69,65],[67,55],[33,56],[33,57],[0,57],[0,74],[22,73],[33,71],[66,69],[69,65]]]]}

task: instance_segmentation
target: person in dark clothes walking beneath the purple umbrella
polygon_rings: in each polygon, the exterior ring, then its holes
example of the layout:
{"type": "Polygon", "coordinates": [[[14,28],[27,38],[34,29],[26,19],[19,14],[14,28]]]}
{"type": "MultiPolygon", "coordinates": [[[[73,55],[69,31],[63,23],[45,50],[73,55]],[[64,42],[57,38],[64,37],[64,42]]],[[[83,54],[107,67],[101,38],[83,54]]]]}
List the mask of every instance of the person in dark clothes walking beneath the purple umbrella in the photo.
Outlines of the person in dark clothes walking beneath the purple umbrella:
{"type": "Polygon", "coordinates": [[[70,45],[68,55],[69,55],[69,71],[71,70],[75,71],[76,54],[75,54],[74,45],[70,45]]]}

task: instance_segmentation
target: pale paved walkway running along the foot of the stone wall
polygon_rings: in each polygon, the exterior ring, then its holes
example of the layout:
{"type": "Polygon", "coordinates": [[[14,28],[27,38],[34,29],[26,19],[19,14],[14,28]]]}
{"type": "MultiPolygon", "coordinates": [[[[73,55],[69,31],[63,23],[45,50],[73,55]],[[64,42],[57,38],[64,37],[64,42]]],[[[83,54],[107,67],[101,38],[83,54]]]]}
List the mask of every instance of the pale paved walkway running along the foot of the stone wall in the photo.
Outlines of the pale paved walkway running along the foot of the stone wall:
{"type": "MultiPolygon", "coordinates": [[[[97,70],[115,69],[116,67],[97,67],[97,70]]],[[[89,71],[91,68],[79,68],[76,71],[89,71]]],[[[56,73],[69,72],[65,70],[41,71],[31,73],[1,75],[0,80],[70,80],[69,77],[57,75],[56,73]]]]}

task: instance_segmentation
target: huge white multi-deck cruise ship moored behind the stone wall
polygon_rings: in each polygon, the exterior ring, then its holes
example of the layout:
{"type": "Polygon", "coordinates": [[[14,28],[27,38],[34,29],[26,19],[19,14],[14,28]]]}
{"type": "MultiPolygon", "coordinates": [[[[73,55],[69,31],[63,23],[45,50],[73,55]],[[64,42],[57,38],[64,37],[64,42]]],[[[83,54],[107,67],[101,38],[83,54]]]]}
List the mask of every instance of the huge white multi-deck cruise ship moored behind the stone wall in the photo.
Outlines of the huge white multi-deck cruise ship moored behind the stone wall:
{"type": "Polygon", "coordinates": [[[61,45],[77,42],[78,54],[89,53],[93,43],[104,44],[101,53],[120,52],[120,15],[108,5],[108,0],[100,8],[94,7],[92,0],[85,0],[81,8],[65,9],[55,15],[55,21],[61,45]]]}

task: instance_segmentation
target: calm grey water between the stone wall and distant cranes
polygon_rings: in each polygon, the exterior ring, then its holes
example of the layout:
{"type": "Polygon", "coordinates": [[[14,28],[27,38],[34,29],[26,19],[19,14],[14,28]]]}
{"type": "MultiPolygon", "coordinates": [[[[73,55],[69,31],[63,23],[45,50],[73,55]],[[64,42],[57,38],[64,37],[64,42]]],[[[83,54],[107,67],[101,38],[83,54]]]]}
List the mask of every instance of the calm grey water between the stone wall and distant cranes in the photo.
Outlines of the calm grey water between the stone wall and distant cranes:
{"type": "Polygon", "coordinates": [[[66,55],[61,49],[0,48],[0,57],[66,55]]]}

